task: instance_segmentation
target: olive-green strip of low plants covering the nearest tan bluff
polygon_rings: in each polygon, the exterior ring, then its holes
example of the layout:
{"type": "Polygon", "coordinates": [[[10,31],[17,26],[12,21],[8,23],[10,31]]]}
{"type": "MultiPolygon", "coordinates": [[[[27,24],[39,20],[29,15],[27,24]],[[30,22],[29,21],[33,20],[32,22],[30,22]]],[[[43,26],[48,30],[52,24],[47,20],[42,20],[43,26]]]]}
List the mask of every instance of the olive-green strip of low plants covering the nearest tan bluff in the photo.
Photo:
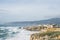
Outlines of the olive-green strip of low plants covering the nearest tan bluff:
{"type": "Polygon", "coordinates": [[[60,35],[60,32],[59,31],[55,31],[55,32],[43,32],[43,33],[35,33],[35,34],[32,34],[32,35],[35,35],[35,36],[40,36],[40,37],[43,37],[43,36],[49,36],[50,38],[54,38],[54,37],[58,37],[60,35]]]}

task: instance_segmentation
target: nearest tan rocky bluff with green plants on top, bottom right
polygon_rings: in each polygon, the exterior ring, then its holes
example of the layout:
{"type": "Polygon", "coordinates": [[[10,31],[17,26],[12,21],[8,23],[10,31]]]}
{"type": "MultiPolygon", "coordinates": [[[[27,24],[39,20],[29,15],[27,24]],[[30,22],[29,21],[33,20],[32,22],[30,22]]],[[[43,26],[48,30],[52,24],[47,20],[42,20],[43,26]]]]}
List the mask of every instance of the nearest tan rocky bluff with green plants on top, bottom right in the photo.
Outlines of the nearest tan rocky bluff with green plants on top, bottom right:
{"type": "Polygon", "coordinates": [[[60,32],[35,33],[30,36],[30,40],[60,40],[60,32]]]}

